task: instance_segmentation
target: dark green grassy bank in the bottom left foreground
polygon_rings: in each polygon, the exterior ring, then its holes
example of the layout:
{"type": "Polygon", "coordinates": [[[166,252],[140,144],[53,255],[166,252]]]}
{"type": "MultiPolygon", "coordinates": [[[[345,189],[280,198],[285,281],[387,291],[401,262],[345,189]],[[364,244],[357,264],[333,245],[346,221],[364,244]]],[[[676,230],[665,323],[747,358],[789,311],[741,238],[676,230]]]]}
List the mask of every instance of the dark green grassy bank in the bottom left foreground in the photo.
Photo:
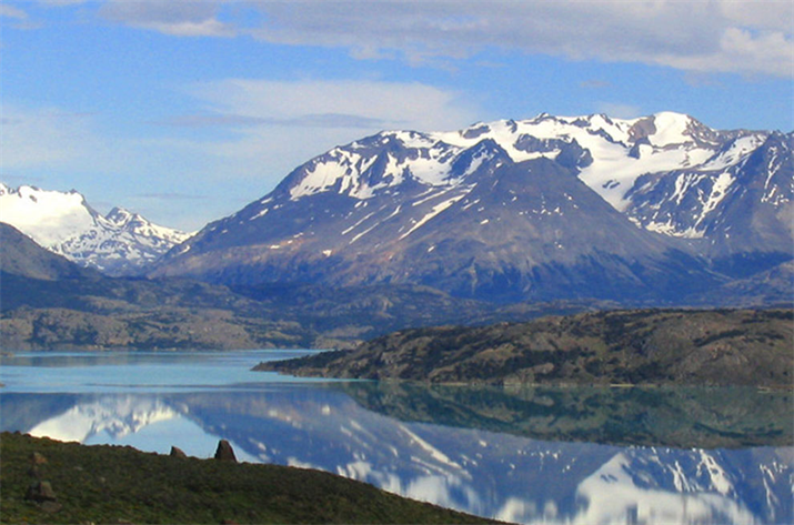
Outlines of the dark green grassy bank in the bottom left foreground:
{"type": "Polygon", "coordinates": [[[318,471],[144,454],[0,434],[0,522],[13,524],[485,524],[318,471]],[[32,454],[46,463],[33,465],[32,454]],[[61,508],[26,493],[50,483],[61,508]]]}

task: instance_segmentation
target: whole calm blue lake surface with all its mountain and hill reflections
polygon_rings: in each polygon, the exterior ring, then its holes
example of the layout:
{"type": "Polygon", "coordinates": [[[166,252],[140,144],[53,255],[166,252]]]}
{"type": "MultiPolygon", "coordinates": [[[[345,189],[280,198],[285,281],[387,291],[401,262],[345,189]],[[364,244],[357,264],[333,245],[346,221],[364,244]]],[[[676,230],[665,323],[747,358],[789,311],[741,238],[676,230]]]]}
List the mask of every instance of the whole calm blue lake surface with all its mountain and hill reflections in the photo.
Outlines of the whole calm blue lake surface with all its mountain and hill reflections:
{"type": "Polygon", "coordinates": [[[489,388],[250,372],[299,352],[21,353],[0,431],[329,471],[543,524],[794,523],[794,394],[489,388]]]}

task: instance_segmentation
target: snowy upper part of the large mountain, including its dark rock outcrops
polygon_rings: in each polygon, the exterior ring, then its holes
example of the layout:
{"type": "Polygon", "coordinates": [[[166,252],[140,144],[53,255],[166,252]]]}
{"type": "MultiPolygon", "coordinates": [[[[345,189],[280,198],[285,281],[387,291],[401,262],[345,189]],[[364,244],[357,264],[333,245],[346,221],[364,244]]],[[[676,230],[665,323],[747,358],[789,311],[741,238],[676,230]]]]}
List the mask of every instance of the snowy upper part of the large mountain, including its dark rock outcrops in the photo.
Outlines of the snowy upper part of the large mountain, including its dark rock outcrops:
{"type": "MultiPolygon", "coordinates": [[[[674,112],[630,120],[605,114],[542,113],[521,121],[479,122],[453,132],[385,131],[311,160],[292,172],[273,196],[289,194],[294,201],[330,192],[368,200],[409,186],[449,189],[473,184],[469,179],[478,171],[476,163],[486,158],[503,158],[499,162],[545,158],[574,170],[602,199],[617,211],[629,212],[643,228],[673,236],[698,238],[695,224],[675,225],[669,218],[640,218],[631,211],[643,205],[637,203],[642,201],[639,195],[647,194],[655,185],[647,175],[674,192],[682,188],[686,192],[703,192],[684,181],[676,186],[670,183],[670,176],[659,174],[680,170],[707,172],[702,175],[711,181],[707,191],[712,188],[721,191],[726,178],[717,183],[720,176],[745,161],[767,137],[765,132],[715,131],[690,115],[674,112]]],[[[655,194],[661,196],[662,192],[655,194]]],[[[693,221],[702,223],[702,215],[713,212],[718,198],[698,196],[701,210],[692,215],[693,221]]],[[[657,202],[649,205],[656,206],[655,210],[664,208],[657,202]]]]}

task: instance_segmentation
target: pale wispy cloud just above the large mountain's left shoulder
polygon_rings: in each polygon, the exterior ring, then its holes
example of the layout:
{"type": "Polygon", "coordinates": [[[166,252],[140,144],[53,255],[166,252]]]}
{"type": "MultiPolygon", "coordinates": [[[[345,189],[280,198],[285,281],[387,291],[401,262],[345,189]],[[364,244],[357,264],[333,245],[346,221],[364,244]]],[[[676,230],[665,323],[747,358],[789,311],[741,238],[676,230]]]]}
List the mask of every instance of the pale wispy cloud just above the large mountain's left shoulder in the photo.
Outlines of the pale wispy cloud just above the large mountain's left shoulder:
{"type": "Polygon", "coordinates": [[[190,93],[207,113],[165,123],[235,130],[234,139],[202,144],[203,151],[233,164],[235,176],[271,185],[310,158],[365,134],[459,129],[475,120],[455,92],[421,83],[230,79],[195,84],[190,93]]]}

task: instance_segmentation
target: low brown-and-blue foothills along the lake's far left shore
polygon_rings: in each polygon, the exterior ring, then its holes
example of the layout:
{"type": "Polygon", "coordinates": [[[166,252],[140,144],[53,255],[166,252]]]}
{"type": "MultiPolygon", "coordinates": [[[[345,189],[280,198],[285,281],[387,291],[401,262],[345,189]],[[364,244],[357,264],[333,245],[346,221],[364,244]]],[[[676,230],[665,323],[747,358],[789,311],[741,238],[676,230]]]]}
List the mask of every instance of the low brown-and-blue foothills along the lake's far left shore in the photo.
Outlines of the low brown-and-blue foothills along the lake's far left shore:
{"type": "Polygon", "coordinates": [[[108,277],[0,224],[0,350],[350,347],[405,326],[525,320],[593,303],[513,305],[426,286],[269,285],[108,277]]]}

